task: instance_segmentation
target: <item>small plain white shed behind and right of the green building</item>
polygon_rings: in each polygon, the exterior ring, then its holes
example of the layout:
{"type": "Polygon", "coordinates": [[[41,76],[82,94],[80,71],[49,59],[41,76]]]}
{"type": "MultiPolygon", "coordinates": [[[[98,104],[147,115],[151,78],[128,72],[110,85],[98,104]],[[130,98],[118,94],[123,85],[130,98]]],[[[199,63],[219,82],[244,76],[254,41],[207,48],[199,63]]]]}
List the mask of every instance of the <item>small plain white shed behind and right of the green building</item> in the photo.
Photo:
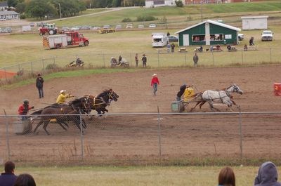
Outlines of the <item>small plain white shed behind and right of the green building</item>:
{"type": "Polygon", "coordinates": [[[242,29],[267,29],[268,16],[246,16],[241,17],[242,29]]]}

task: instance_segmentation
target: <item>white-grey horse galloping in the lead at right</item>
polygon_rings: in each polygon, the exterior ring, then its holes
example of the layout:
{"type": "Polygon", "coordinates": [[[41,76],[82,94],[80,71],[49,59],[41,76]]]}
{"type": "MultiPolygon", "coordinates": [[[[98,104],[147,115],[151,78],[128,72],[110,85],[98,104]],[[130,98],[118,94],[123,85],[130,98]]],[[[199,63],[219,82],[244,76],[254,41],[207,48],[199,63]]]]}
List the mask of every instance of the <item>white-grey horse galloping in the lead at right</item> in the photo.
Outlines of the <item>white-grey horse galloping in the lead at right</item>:
{"type": "MultiPolygon", "coordinates": [[[[197,93],[193,95],[192,97],[195,97],[194,100],[196,100],[196,105],[200,106],[200,109],[202,105],[204,105],[205,102],[209,103],[209,107],[212,111],[219,111],[219,109],[214,107],[214,102],[218,102],[224,105],[228,105],[230,108],[230,111],[233,112],[233,109],[231,109],[232,105],[236,105],[237,109],[240,109],[240,106],[237,105],[234,100],[233,96],[230,93],[239,93],[242,94],[243,91],[240,89],[239,86],[236,84],[233,84],[229,86],[228,88],[224,88],[221,91],[212,91],[212,90],[207,90],[204,92],[197,93]]],[[[192,107],[191,110],[195,109],[195,107],[192,107]]]]}

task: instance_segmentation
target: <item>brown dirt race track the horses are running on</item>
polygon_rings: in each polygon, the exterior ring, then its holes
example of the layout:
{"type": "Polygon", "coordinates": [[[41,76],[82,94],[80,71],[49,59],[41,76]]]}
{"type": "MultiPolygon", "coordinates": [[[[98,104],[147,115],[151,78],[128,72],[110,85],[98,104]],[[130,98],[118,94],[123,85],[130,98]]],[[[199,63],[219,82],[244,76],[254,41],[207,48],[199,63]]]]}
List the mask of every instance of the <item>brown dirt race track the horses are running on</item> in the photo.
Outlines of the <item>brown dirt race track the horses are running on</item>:
{"type": "MultiPolygon", "coordinates": [[[[281,97],[273,95],[273,84],[280,82],[280,65],[262,67],[223,67],[195,69],[155,69],[131,73],[93,74],[87,77],[52,79],[44,83],[44,99],[39,99],[35,85],[1,90],[1,110],[17,114],[23,98],[35,108],[55,102],[61,89],[73,95],[97,95],[105,88],[119,94],[110,113],[171,112],[171,102],[181,84],[192,84],[195,92],[221,89],[237,84],[243,95],[233,94],[242,112],[281,111],[281,97]],[[158,74],[160,85],[152,95],[150,79],[158,74]]],[[[219,106],[223,112],[226,107],[219,106]]],[[[237,111],[237,109],[236,109],[237,111]]],[[[195,112],[209,112],[205,104],[195,112]]],[[[103,119],[86,119],[85,157],[95,159],[154,159],[158,157],[158,121],[155,115],[110,115],[103,119]]],[[[162,114],[162,156],[178,157],[240,157],[239,120],[237,115],[162,114]]],[[[1,119],[1,153],[6,156],[5,119],[1,119]],[[4,151],[2,151],[4,149],[4,151]]],[[[244,157],[277,157],[281,153],[281,114],[243,114],[244,157]]],[[[70,126],[63,131],[57,124],[48,127],[51,135],[41,129],[37,135],[15,135],[11,131],[11,156],[22,161],[34,159],[74,159],[81,154],[79,131],[70,126]],[[31,153],[32,152],[32,153],[31,153]]]]}

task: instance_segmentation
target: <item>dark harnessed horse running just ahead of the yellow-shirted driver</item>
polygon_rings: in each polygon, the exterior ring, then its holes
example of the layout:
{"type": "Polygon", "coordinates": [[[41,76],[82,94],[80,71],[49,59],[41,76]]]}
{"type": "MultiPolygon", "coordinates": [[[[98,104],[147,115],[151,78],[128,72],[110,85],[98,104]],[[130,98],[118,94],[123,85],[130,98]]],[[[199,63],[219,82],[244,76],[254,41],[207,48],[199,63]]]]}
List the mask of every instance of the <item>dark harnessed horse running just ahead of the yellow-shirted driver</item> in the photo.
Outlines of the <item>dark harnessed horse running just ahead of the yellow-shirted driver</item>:
{"type": "Polygon", "coordinates": [[[117,101],[119,98],[119,95],[115,93],[115,91],[112,91],[112,89],[105,90],[96,97],[93,95],[84,96],[89,96],[89,100],[91,100],[92,103],[91,109],[95,109],[98,114],[105,114],[105,112],[108,112],[106,107],[110,105],[112,100],[117,101]]]}

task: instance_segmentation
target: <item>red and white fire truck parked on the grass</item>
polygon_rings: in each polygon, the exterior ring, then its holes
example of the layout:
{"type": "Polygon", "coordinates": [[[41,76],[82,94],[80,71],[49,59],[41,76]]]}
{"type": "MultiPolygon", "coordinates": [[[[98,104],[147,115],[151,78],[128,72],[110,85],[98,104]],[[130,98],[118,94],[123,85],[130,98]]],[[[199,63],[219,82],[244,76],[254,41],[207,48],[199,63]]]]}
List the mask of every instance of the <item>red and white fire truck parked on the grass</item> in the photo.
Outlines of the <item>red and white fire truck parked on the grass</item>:
{"type": "Polygon", "coordinates": [[[79,32],[65,32],[65,34],[43,36],[43,46],[48,49],[89,46],[89,39],[79,32]]]}

